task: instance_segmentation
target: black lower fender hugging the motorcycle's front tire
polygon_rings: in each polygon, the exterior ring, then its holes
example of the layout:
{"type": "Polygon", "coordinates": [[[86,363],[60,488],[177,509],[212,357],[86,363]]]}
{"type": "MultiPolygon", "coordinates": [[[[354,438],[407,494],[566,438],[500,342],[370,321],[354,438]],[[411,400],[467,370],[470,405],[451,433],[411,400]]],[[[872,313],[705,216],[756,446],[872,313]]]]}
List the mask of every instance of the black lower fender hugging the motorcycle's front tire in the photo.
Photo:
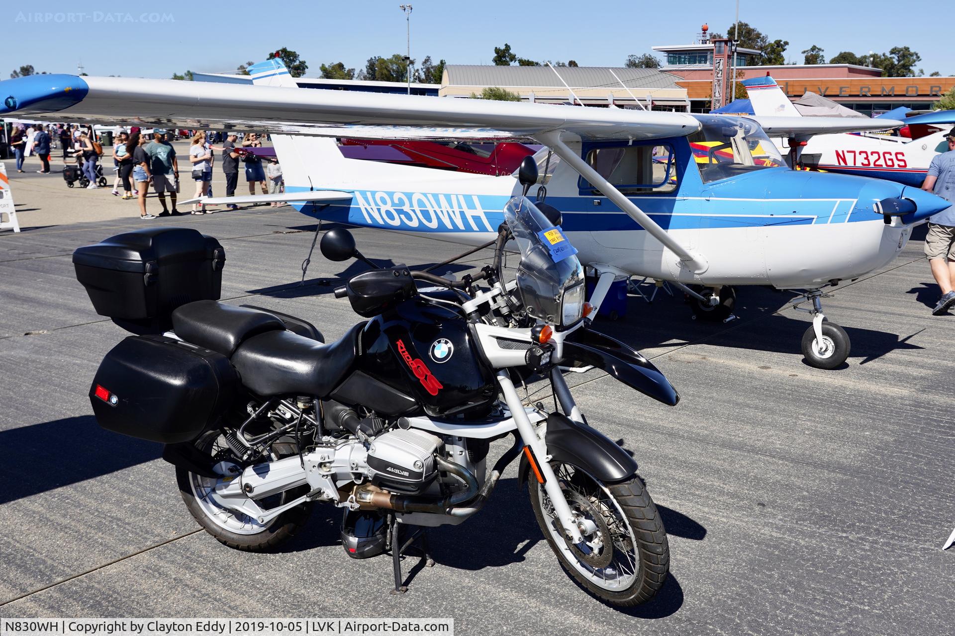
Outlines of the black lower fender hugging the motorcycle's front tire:
{"type": "MultiPolygon", "coordinates": [[[[583,468],[601,482],[626,482],[637,473],[637,462],[626,450],[597,429],[572,421],[560,413],[547,416],[544,442],[551,461],[583,468]]],[[[542,461],[543,458],[535,459],[542,461]]],[[[527,480],[529,470],[527,456],[521,455],[519,484],[527,480]]]]}

